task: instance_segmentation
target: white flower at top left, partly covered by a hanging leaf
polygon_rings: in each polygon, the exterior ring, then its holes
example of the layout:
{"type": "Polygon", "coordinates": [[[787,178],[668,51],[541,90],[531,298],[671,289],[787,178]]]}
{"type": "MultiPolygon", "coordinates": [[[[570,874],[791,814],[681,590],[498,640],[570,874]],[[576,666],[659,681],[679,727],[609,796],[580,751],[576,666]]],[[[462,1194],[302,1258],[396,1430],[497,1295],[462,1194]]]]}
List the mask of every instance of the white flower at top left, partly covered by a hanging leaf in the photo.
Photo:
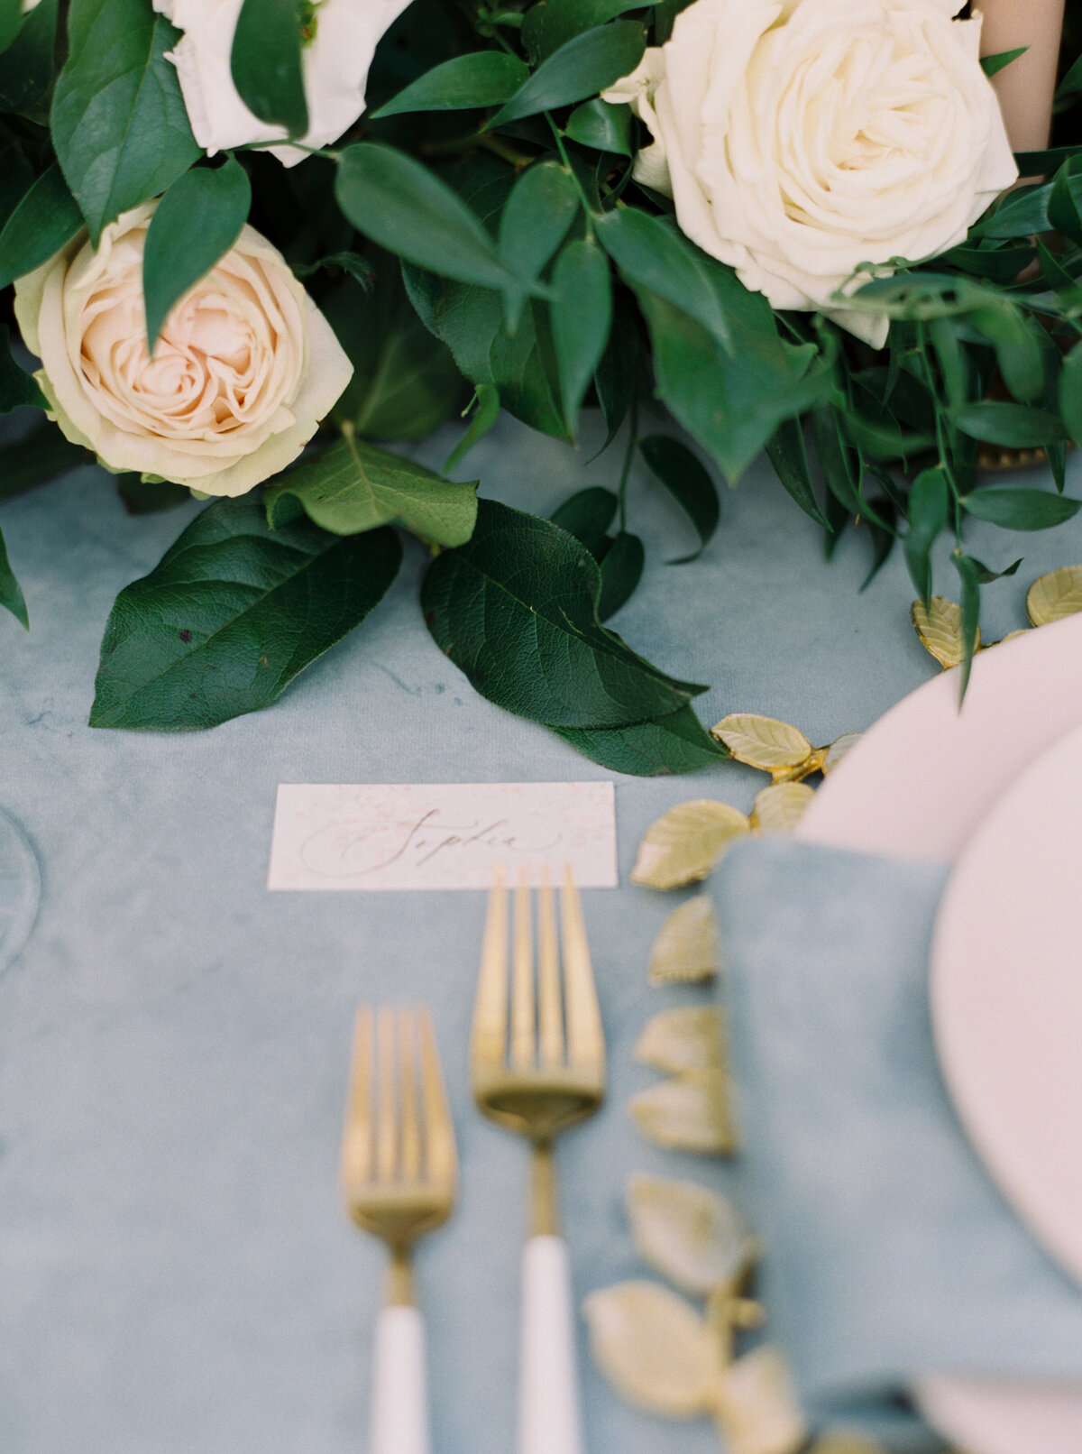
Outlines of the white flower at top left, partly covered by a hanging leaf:
{"type": "MultiPolygon", "coordinates": [[[[154,9],[183,31],[166,60],[176,65],[195,140],[209,154],[273,141],[268,126],[237,93],[230,70],[233,32],[243,0],[154,0],[154,9]]],[[[410,0],[314,0],[314,35],[302,51],[308,100],[308,147],[337,141],[365,109],[365,83],[375,47],[410,0]]],[[[307,156],[298,147],[269,147],[288,167],[307,156]]]]}

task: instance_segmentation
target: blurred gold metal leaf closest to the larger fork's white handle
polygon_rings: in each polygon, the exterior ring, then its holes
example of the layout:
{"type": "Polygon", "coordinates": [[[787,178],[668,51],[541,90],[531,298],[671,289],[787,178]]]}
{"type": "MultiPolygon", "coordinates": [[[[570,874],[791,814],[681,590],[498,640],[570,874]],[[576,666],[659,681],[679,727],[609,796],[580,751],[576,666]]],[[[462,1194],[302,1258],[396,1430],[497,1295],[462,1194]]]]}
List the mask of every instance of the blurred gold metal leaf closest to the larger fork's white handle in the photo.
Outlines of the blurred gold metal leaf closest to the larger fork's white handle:
{"type": "Polygon", "coordinates": [[[656,1282],[617,1282],[582,1304],[593,1359],[628,1402],[670,1419],[713,1407],[717,1339],[682,1297],[656,1282]]]}

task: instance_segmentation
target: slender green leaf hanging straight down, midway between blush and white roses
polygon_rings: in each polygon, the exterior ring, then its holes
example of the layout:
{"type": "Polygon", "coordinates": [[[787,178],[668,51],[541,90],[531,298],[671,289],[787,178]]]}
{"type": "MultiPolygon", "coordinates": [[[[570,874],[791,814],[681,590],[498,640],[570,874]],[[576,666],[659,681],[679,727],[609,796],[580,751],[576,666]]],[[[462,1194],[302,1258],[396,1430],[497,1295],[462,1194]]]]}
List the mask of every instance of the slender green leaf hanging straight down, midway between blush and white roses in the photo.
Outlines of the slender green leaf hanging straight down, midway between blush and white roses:
{"type": "Polygon", "coordinates": [[[560,398],[567,432],[574,435],[586,387],[605,353],[612,323],[608,257],[589,238],[569,243],[556,260],[553,286],[553,339],[560,369],[560,398]]]}

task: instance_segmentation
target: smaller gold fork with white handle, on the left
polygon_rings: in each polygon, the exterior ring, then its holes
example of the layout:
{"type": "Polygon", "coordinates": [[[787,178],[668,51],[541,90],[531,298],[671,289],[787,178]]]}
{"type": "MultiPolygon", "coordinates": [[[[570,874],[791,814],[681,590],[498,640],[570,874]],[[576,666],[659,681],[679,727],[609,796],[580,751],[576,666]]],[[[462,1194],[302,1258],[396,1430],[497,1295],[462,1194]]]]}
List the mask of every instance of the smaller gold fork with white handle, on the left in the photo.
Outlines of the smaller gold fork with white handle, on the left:
{"type": "Polygon", "coordinates": [[[391,1262],[375,1328],[369,1454],[428,1454],[425,1323],[413,1243],[455,1200],[455,1134],[428,1009],[356,1013],[342,1138],[346,1210],[387,1243],[391,1262]]]}

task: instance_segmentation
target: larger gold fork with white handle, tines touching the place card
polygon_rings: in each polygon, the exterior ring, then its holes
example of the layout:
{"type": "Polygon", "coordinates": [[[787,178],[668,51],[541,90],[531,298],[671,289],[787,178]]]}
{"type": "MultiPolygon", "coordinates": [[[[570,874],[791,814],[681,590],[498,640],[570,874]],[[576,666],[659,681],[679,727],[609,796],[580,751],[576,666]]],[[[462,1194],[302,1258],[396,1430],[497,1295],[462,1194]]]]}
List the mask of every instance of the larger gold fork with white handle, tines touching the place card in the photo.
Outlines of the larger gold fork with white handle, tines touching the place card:
{"type": "Polygon", "coordinates": [[[519,1454],[582,1451],[570,1265],[560,1236],[553,1140],[601,1105],[605,1040],[570,868],[560,909],[561,944],[545,878],[538,890],[535,976],[529,890],[525,883],[516,887],[509,992],[508,891],[497,875],[470,1041],[477,1105],[528,1136],[534,1147],[531,1234],[522,1259],[519,1454]]]}

